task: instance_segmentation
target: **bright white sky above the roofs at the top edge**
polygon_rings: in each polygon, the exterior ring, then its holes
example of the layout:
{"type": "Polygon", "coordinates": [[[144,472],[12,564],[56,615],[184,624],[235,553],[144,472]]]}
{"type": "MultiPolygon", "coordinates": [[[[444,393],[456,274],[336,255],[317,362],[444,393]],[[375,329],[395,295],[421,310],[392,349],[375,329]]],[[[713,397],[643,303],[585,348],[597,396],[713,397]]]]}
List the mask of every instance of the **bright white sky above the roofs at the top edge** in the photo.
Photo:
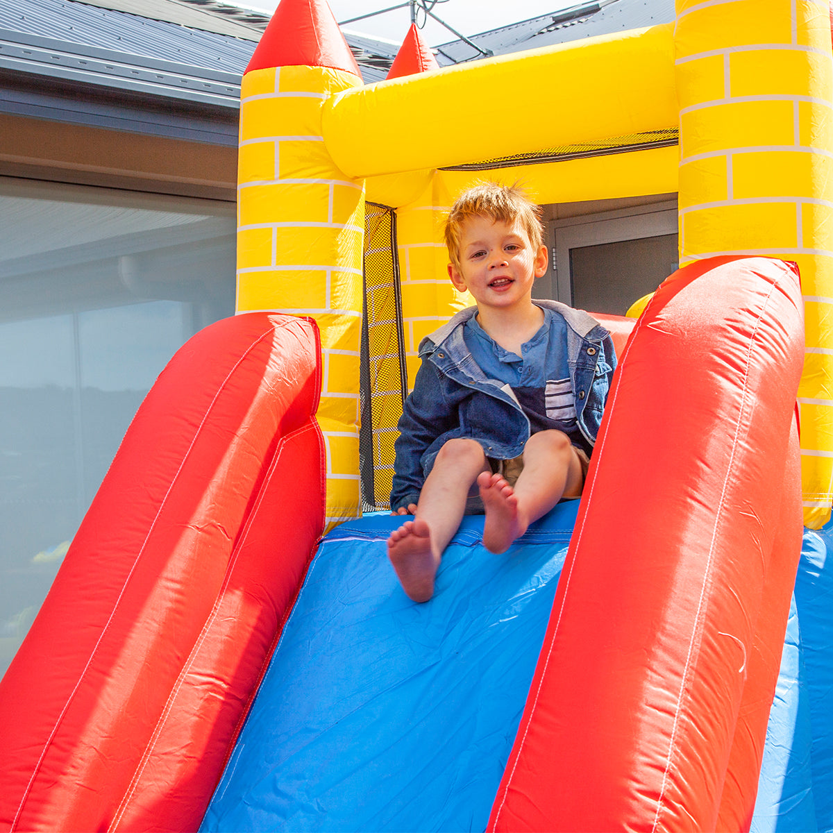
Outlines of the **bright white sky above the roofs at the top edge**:
{"type": "MultiPolygon", "coordinates": [[[[236,6],[257,8],[273,12],[277,0],[226,0],[236,6]]],[[[367,12],[376,12],[384,8],[399,5],[404,0],[329,0],[337,21],[343,22],[351,17],[358,17],[367,12]]],[[[576,6],[580,0],[438,0],[432,8],[437,17],[441,17],[449,26],[466,36],[486,32],[499,26],[506,26],[529,17],[536,17],[547,12],[556,12],[562,8],[576,6]]],[[[421,18],[420,18],[421,22],[421,18]]],[[[411,25],[411,12],[408,7],[393,12],[345,24],[352,32],[363,32],[374,37],[386,37],[397,43],[402,42],[411,25]]],[[[430,46],[456,40],[456,35],[428,19],[422,28],[422,36],[430,46]]]]}

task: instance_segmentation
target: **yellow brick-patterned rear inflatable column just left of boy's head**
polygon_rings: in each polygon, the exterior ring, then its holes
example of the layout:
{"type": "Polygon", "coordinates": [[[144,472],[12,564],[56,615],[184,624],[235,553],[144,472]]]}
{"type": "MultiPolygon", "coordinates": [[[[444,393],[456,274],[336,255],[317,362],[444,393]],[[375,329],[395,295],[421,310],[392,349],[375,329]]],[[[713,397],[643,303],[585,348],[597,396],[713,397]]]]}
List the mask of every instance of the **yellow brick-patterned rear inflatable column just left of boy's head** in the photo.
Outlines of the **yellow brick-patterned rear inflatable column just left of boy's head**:
{"type": "Polygon", "coordinates": [[[397,252],[402,284],[402,322],[408,389],[419,369],[419,342],[455,312],[471,306],[468,293],[457,292],[448,277],[448,252],[442,224],[456,195],[447,191],[441,174],[410,205],[397,209],[397,252]]]}

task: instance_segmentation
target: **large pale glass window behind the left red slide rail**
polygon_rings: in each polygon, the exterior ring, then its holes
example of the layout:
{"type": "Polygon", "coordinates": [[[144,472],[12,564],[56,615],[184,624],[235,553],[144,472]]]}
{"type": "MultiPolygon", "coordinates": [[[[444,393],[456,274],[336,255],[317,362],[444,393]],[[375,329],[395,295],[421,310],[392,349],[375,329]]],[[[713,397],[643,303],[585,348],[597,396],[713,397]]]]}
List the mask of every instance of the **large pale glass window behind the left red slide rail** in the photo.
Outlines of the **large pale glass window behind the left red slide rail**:
{"type": "Polygon", "coordinates": [[[137,407],[234,287],[233,203],[0,177],[0,674],[137,407]]]}

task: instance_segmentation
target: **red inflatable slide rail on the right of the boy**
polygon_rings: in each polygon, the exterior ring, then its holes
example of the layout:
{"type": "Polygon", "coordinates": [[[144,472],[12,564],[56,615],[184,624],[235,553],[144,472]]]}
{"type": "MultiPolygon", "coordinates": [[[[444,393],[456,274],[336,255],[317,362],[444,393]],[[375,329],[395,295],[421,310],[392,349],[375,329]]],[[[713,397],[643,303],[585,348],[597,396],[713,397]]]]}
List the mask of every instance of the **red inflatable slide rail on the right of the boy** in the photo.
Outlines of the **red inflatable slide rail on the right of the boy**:
{"type": "Polygon", "coordinates": [[[749,828],[801,552],[794,267],[712,258],[621,357],[490,831],[749,828]]]}

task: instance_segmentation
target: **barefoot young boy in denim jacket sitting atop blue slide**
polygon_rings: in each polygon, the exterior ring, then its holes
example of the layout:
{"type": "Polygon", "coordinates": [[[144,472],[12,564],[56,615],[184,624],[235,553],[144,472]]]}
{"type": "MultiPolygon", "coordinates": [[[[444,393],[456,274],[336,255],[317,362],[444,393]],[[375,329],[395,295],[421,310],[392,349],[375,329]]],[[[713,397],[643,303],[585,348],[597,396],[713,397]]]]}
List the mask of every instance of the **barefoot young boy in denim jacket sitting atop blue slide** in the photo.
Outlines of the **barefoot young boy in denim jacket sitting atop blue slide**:
{"type": "Polygon", "coordinates": [[[540,208],[495,183],[461,195],[446,221],[454,286],[476,307],[423,339],[399,421],[387,541],[413,601],[427,601],[466,513],[503,552],[562,497],[581,496],[616,357],[586,312],[532,301],[546,272],[540,208]],[[479,496],[477,492],[479,491],[479,496]]]}

